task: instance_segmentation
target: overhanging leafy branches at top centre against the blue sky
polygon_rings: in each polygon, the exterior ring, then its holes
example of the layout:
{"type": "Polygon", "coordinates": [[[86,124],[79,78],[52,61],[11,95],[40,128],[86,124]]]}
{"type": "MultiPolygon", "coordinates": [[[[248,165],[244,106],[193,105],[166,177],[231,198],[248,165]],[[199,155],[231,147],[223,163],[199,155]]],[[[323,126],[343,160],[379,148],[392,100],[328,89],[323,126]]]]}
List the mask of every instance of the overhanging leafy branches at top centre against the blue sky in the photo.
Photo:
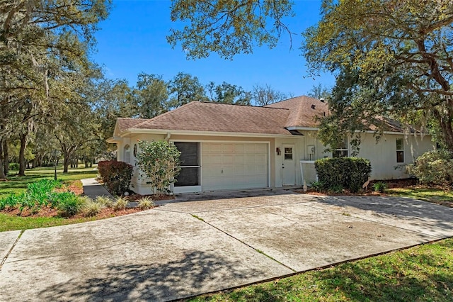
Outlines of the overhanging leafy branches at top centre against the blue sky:
{"type": "Polygon", "coordinates": [[[174,0],[171,21],[185,26],[173,28],[167,40],[173,47],[180,42],[193,59],[210,52],[231,59],[256,45],[275,47],[282,32],[291,36],[283,22],[289,16],[294,16],[289,0],[174,0]]]}

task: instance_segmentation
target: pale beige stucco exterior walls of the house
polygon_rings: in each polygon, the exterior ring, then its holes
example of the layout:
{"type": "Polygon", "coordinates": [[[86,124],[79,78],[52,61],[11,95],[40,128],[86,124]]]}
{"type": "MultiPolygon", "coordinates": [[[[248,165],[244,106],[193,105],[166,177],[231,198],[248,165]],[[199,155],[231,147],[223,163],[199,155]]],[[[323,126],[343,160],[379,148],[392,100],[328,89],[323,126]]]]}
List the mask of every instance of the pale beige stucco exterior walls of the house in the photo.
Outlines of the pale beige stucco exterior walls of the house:
{"type": "MultiPolygon", "coordinates": [[[[282,161],[283,145],[294,145],[294,174],[297,185],[302,185],[302,175],[300,169],[300,160],[318,160],[324,157],[331,157],[331,152],[324,152],[325,146],[316,137],[316,131],[301,131],[302,136],[288,136],[287,138],[251,138],[251,137],[226,137],[214,135],[170,135],[171,141],[194,141],[194,142],[268,142],[270,146],[269,164],[270,164],[270,187],[282,186],[282,161]],[[307,146],[314,146],[314,155],[310,155],[307,146]],[[280,148],[282,153],[277,155],[276,149],[280,148]]],[[[131,147],[131,164],[134,165],[135,158],[133,155],[134,144],[138,140],[165,140],[167,135],[161,134],[140,134],[130,135],[123,138],[118,143],[117,160],[124,160],[124,147],[131,147]]],[[[423,152],[432,150],[434,143],[431,142],[430,136],[414,138],[413,136],[386,134],[383,135],[379,142],[376,142],[372,133],[362,134],[362,144],[358,157],[364,157],[372,163],[372,179],[398,179],[406,178],[409,175],[405,169],[394,169],[396,163],[396,138],[404,138],[404,159],[403,164],[411,164],[413,160],[423,152]]],[[[351,154],[349,146],[349,154],[351,154]]],[[[134,167],[132,177],[132,189],[139,194],[151,194],[151,189],[146,184],[146,179],[139,177],[137,167],[134,167]]]]}

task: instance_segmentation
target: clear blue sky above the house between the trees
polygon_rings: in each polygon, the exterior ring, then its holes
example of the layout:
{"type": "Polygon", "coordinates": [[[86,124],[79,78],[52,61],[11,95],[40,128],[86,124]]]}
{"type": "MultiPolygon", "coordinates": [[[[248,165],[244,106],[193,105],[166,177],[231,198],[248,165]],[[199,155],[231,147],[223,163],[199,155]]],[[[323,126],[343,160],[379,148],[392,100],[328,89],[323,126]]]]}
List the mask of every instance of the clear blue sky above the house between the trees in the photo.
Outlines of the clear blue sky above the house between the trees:
{"type": "Polygon", "coordinates": [[[301,56],[300,33],[319,21],[321,1],[294,1],[296,16],[287,21],[292,32],[282,35],[273,49],[256,47],[253,54],[236,55],[224,60],[213,53],[206,59],[187,60],[180,45],[172,49],[166,41],[171,26],[170,1],[113,1],[107,21],[96,33],[97,49],[92,57],[105,69],[110,79],[126,79],[131,86],[137,74],[160,74],[172,79],[178,72],[192,74],[202,84],[228,82],[251,90],[253,85],[269,84],[274,89],[293,96],[307,94],[316,84],[332,86],[333,76],[307,77],[304,57],[301,56]]]}

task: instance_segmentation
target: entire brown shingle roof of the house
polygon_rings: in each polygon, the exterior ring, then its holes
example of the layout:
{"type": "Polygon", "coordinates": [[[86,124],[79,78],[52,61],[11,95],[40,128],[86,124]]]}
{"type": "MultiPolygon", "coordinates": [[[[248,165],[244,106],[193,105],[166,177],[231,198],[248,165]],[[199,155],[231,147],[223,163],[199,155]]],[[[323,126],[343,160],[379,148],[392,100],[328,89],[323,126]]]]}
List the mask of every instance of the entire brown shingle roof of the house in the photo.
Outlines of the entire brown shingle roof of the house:
{"type": "MultiPolygon", "coordinates": [[[[118,118],[117,125],[120,132],[133,128],[291,135],[285,128],[316,128],[319,123],[315,117],[327,114],[328,104],[309,96],[265,107],[193,101],[151,119],[118,118]]],[[[403,132],[402,125],[396,121],[384,119],[382,122],[389,131],[403,132]]],[[[369,125],[369,130],[374,128],[369,125]]]]}

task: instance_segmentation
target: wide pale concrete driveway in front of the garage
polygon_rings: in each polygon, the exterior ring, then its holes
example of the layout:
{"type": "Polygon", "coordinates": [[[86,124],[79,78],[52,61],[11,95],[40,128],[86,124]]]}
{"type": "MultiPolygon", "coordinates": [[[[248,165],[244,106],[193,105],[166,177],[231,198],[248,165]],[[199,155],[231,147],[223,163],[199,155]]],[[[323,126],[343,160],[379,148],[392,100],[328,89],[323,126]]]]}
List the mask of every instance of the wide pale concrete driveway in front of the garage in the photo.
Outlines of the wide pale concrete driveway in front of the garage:
{"type": "Polygon", "coordinates": [[[170,301],[453,236],[423,201],[256,195],[0,233],[0,301],[170,301]]]}

